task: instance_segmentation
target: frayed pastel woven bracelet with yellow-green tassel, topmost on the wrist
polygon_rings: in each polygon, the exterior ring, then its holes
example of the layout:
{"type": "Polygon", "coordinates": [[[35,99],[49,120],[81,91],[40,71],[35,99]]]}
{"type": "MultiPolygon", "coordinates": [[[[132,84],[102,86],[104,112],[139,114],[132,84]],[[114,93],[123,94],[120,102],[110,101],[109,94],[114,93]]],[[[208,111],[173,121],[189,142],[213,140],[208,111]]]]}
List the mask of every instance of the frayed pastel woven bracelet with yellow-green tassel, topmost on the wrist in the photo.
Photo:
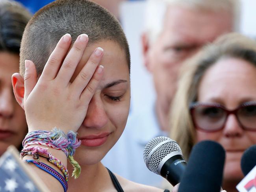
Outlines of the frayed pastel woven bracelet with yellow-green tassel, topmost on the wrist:
{"type": "MultiPolygon", "coordinates": [[[[62,150],[69,159],[70,164],[74,167],[72,177],[75,179],[81,173],[81,167],[73,158],[76,148],[80,146],[81,141],[76,138],[76,133],[69,131],[67,135],[54,127],[52,131],[37,130],[28,133],[22,142],[23,148],[27,148],[30,145],[43,145],[57,150],[62,150]]],[[[52,156],[53,157],[53,156],[52,156]]],[[[56,158],[52,160],[56,162],[56,158]]]]}

